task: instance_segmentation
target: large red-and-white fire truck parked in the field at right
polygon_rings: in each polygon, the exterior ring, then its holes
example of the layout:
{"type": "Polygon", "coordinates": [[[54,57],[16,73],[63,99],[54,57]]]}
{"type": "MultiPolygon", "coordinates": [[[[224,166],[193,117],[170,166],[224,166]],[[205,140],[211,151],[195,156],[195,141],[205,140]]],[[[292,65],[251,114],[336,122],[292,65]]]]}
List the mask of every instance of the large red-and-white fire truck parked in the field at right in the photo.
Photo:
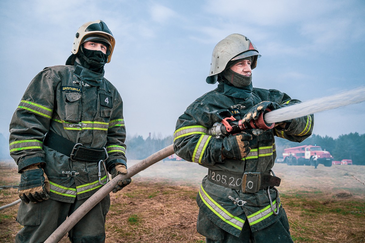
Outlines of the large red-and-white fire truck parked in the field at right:
{"type": "Polygon", "coordinates": [[[288,165],[314,165],[313,156],[317,155],[317,164],[331,166],[333,157],[330,152],[322,150],[320,146],[303,145],[293,148],[285,148],[283,157],[284,163],[288,165]]]}

